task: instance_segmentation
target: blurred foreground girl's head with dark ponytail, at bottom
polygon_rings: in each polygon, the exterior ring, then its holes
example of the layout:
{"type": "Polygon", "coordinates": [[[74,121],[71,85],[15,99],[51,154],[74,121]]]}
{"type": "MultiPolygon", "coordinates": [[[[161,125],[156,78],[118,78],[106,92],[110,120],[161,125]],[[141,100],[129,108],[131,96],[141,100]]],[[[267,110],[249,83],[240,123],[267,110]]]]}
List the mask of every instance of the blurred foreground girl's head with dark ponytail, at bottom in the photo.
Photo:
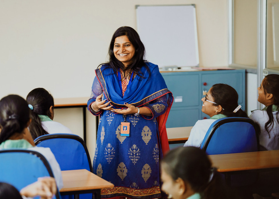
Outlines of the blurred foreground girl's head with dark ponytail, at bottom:
{"type": "Polygon", "coordinates": [[[175,148],[161,161],[162,190],[173,199],[233,198],[204,151],[175,148]]]}

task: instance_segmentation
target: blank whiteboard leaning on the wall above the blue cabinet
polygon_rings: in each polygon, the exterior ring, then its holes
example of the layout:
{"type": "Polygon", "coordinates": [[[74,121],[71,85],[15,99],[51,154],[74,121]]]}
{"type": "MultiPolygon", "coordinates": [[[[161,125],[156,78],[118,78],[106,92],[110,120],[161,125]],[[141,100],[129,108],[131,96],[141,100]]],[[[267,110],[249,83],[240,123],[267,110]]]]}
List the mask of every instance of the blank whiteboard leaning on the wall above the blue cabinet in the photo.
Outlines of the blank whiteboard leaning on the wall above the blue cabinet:
{"type": "Polygon", "coordinates": [[[136,14],[147,61],[160,68],[199,65],[194,4],[137,5],[136,14]]]}

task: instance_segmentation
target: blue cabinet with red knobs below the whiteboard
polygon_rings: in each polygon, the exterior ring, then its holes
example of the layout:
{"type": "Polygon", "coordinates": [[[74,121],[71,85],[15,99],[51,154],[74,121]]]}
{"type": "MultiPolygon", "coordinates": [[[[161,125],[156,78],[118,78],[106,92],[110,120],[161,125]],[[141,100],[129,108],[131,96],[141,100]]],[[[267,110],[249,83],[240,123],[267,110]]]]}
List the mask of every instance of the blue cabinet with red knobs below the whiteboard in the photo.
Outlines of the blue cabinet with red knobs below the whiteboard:
{"type": "Polygon", "coordinates": [[[245,70],[216,70],[190,72],[162,72],[168,89],[173,93],[173,105],[167,128],[194,126],[199,119],[209,118],[202,113],[203,91],[212,85],[229,84],[238,93],[238,103],[245,110],[245,70]]]}

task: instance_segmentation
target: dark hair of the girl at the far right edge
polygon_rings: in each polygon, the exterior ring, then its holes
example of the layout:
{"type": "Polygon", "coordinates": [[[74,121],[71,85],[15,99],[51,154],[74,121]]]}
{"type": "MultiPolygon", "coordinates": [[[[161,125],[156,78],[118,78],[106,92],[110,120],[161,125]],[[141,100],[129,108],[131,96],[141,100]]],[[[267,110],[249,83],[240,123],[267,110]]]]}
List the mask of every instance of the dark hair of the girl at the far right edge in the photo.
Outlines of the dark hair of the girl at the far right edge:
{"type": "MultiPolygon", "coordinates": [[[[278,74],[269,74],[265,76],[265,78],[262,81],[262,87],[264,89],[264,94],[272,94],[273,104],[279,105],[279,75],[278,74]]],[[[267,115],[268,115],[268,121],[265,123],[264,128],[267,131],[268,135],[268,127],[270,129],[273,127],[274,119],[273,119],[273,113],[272,113],[272,105],[268,106],[266,109],[267,115]]],[[[279,123],[278,118],[279,109],[276,112],[276,120],[279,123]]],[[[270,137],[270,135],[269,135],[270,137]]]]}

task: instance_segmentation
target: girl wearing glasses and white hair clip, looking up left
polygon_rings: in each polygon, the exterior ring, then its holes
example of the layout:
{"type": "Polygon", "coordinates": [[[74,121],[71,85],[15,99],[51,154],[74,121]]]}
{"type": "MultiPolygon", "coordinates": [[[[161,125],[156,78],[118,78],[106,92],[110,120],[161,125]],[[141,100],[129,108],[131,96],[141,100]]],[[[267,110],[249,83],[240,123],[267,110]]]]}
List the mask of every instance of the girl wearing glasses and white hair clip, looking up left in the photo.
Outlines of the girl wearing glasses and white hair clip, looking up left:
{"type": "Polygon", "coordinates": [[[206,96],[202,98],[202,112],[210,119],[198,120],[190,132],[184,146],[200,147],[210,125],[217,119],[224,117],[248,117],[238,105],[236,90],[227,84],[214,84],[206,96]]]}

